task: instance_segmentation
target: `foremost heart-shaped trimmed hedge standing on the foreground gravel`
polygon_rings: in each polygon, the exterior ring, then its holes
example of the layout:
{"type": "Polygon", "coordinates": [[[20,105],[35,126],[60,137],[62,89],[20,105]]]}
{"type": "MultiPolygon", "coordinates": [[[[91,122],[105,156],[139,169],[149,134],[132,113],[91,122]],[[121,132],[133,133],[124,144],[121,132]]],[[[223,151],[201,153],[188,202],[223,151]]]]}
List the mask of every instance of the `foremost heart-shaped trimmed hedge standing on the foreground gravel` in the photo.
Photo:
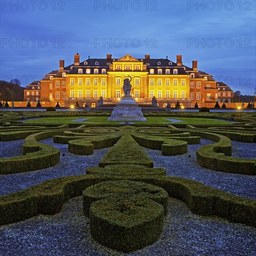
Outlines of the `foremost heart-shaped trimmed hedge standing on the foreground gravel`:
{"type": "Polygon", "coordinates": [[[90,232],[99,243],[123,252],[157,241],[163,230],[163,206],[139,197],[100,200],[90,208],[90,232]]]}

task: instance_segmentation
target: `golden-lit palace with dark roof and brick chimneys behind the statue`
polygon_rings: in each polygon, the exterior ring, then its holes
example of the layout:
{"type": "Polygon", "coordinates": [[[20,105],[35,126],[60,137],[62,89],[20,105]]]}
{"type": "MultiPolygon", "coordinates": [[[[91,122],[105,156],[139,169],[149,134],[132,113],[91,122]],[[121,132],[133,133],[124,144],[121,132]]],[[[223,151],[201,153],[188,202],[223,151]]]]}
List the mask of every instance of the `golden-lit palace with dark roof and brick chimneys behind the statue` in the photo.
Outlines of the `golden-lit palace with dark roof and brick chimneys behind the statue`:
{"type": "MultiPolygon", "coordinates": [[[[214,107],[218,100],[218,89],[212,75],[197,69],[197,61],[192,67],[182,64],[182,55],[176,55],[176,61],[166,59],[135,59],[127,54],[113,59],[107,54],[105,59],[80,61],[80,55],[74,55],[74,63],[64,65],[60,61],[58,70],[52,71],[40,81],[41,98],[49,99],[61,107],[78,101],[80,107],[88,101],[96,107],[99,97],[104,104],[117,103],[123,95],[123,80],[132,77],[131,95],[140,104],[151,104],[155,96],[159,107],[167,102],[175,107],[177,101],[186,108],[214,107]]],[[[55,105],[54,105],[55,106],[55,105]]]]}

